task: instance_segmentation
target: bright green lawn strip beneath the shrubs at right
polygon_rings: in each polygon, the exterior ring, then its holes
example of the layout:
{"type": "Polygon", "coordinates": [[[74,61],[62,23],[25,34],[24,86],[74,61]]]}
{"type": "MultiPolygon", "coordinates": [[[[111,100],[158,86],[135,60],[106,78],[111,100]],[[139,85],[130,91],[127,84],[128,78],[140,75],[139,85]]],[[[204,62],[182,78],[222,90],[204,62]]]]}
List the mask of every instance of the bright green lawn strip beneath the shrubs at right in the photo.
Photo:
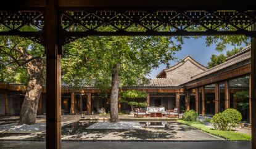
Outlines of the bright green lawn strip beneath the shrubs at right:
{"type": "Polygon", "coordinates": [[[183,121],[182,119],[178,119],[178,122],[182,123],[182,124],[186,124],[191,127],[194,127],[201,131],[207,132],[209,134],[216,135],[218,137],[222,137],[226,140],[251,140],[250,135],[242,134],[240,132],[234,132],[234,131],[220,131],[220,130],[211,129],[209,127],[206,127],[200,121],[183,121]]]}

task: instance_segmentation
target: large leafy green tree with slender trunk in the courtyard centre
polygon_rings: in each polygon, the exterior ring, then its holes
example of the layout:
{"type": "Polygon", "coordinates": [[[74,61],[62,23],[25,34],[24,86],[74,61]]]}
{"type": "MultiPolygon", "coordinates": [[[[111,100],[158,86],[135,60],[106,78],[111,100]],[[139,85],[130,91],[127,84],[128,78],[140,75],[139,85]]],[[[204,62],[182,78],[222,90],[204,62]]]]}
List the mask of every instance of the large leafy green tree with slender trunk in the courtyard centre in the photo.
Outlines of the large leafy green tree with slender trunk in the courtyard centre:
{"type": "Polygon", "coordinates": [[[111,89],[110,119],[118,121],[118,92],[122,86],[147,83],[146,74],[173,60],[181,38],[88,37],[64,48],[63,80],[67,83],[111,89]]]}

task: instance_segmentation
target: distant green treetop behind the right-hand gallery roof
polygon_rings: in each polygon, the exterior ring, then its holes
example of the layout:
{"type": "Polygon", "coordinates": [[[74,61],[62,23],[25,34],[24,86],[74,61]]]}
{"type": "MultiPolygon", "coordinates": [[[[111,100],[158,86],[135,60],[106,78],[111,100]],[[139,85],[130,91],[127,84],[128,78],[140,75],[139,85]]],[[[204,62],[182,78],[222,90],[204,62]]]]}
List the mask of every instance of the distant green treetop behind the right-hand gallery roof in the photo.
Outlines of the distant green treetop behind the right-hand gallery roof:
{"type": "Polygon", "coordinates": [[[220,54],[220,55],[215,55],[213,54],[211,57],[210,62],[208,62],[208,68],[213,68],[214,66],[220,65],[221,63],[226,62],[226,58],[230,57],[231,55],[237,54],[242,50],[242,47],[235,47],[232,50],[228,50],[226,52],[226,55],[220,54]]]}

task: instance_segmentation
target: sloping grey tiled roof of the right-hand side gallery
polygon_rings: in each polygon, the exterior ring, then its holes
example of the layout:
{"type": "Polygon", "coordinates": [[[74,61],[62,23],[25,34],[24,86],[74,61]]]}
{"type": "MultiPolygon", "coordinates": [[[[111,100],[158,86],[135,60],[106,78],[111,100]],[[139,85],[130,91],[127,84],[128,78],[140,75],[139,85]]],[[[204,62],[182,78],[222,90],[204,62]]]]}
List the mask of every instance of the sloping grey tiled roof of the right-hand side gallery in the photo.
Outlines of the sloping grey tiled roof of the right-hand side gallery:
{"type": "MultiPolygon", "coordinates": [[[[242,54],[236,54],[236,57],[229,58],[229,60],[227,60],[224,63],[221,63],[220,65],[217,65],[213,68],[210,68],[209,70],[206,70],[202,73],[192,76],[191,79],[187,83],[194,81],[196,79],[208,76],[208,75],[212,75],[214,73],[217,73],[217,71],[227,69],[230,66],[237,65],[238,63],[242,63],[242,62],[244,62],[244,64],[250,63],[250,50],[248,50],[248,48],[250,49],[250,47],[244,48],[244,49],[246,49],[247,52],[242,52],[242,54]]],[[[244,49],[243,49],[243,51],[244,51],[244,49]]],[[[184,84],[187,84],[187,83],[184,83],[184,84]]]]}

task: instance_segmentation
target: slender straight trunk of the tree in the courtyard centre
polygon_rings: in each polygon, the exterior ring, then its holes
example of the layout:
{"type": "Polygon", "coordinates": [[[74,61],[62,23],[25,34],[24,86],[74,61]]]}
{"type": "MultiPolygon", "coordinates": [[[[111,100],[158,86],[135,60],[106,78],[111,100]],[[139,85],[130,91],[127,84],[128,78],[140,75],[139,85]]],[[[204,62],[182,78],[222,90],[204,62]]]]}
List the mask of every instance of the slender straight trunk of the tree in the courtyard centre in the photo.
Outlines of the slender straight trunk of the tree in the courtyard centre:
{"type": "Polygon", "coordinates": [[[114,73],[112,74],[112,89],[110,95],[110,122],[117,123],[119,121],[118,118],[118,92],[119,92],[119,70],[120,63],[117,63],[114,67],[114,73]]]}

